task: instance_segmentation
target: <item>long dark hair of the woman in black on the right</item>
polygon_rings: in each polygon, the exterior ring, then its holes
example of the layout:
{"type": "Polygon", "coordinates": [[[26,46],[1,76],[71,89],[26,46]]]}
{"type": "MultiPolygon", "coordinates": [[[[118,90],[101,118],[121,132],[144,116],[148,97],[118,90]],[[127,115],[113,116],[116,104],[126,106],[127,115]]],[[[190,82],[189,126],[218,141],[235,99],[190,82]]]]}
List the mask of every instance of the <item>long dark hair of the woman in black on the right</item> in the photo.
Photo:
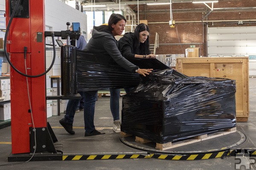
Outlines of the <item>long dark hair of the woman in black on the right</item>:
{"type": "Polygon", "coordinates": [[[133,40],[133,53],[134,54],[139,54],[139,55],[147,55],[150,54],[149,50],[149,36],[147,40],[144,43],[140,42],[140,32],[141,31],[148,31],[149,33],[149,28],[146,24],[141,23],[137,25],[137,27],[134,30],[134,40],[133,40]]]}

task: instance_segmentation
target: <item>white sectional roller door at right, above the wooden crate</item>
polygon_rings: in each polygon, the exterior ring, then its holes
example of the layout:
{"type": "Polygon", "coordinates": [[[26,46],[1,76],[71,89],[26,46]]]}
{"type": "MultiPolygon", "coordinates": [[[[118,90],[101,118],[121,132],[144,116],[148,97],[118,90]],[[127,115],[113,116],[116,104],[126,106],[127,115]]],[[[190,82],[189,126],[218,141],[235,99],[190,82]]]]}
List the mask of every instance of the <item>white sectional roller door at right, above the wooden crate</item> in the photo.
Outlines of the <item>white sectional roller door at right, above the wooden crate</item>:
{"type": "Polygon", "coordinates": [[[208,57],[256,55],[256,27],[208,28],[208,57]]]}

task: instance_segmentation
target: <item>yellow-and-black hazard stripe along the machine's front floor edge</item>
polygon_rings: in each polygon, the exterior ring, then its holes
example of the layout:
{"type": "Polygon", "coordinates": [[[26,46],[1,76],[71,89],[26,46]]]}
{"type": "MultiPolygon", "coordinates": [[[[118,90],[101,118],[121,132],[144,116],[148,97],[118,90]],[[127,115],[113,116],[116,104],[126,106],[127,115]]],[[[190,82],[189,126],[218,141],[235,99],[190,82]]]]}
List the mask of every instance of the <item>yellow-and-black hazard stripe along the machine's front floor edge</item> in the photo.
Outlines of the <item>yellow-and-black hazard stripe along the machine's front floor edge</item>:
{"type": "MultiPolygon", "coordinates": [[[[71,160],[95,160],[95,159],[143,159],[143,158],[154,158],[154,159],[168,159],[168,160],[201,160],[201,159],[213,159],[213,158],[224,158],[225,156],[235,156],[237,150],[226,150],[214,153],[200,153],[200,154],[160,154],[151,153],[148,155],[136,155],[136,154],[123,154],[123,155],[64,155],[62,156],[63,161],[71,160]]],[[[250,151],[250,155],[256,155],[256,150],[250,151]]]]}

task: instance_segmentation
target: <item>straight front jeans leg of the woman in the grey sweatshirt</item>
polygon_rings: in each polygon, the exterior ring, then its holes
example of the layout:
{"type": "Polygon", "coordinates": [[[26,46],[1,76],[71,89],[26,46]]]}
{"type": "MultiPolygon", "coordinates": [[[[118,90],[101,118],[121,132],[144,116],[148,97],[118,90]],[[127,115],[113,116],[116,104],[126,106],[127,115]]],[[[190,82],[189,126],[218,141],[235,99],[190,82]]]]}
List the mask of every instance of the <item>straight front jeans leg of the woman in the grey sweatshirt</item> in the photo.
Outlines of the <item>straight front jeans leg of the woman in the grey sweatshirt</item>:
{"type": "Polygon", "coordinates": [[[84,91],[84,129],[86,133],[95,130],[94,111],[98,91],[84,91]]]}

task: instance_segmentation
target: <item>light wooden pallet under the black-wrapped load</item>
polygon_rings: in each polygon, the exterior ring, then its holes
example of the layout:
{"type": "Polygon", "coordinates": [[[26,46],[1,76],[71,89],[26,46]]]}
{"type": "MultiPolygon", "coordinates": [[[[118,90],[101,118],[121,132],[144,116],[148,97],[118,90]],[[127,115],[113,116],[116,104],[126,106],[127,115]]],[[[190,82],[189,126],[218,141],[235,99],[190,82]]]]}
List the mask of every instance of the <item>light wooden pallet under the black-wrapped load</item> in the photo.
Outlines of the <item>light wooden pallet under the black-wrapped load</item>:
{"type": "MultiPolygon", "coordinates": [[[[178,142],[167,142],[167,143],[164,143],[164,144],[156,143],[155,148],[157,150],[172,149],[172,148],[175,148],[175,147],[180,147],[180,146],[184,146],[186,144],[192,144],[192,143],[195,143],[195,142],[201,142],[201,141],[204,141],[204,140],[207,140],[207,139],[212,139],[212,138],[215,138],[215,137],[227,135],[227,134],[234,133],[234,132],[236,132],[236,127],[226,129],[224,131],[219,131],[219,132],[216,132],[216,133],[212,133],[212,134],[205,134],[205,135],[195,136],[194,138],[185,139],[185,140],[178,141],[178,142]]],[[[132,135],[128,134],[128,133],[125,133],[125,132],[121,132],[120,136],[121,137],[126,137],[126,136],[132,136],[132,135]]],[[[138,136],[135,136],[135,142],[144,144],[144,143],[148,143],[148,142],[152,142],[152,141],[150,141],[148,139],[140,138],[138,136]]]]}

